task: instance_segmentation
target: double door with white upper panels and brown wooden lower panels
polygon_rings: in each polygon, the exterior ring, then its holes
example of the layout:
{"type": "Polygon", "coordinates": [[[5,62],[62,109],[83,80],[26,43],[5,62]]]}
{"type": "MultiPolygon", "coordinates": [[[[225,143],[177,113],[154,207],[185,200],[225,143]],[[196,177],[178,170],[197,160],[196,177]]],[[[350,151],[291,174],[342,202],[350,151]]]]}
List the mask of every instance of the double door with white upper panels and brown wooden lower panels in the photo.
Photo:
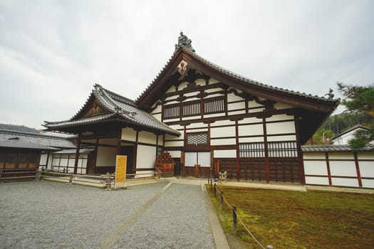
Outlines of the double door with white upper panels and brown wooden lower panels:
{"type": "Polygon", "coordinates": [[[185,176],[208,177],[210,152],[185,152],[185,176]]]}

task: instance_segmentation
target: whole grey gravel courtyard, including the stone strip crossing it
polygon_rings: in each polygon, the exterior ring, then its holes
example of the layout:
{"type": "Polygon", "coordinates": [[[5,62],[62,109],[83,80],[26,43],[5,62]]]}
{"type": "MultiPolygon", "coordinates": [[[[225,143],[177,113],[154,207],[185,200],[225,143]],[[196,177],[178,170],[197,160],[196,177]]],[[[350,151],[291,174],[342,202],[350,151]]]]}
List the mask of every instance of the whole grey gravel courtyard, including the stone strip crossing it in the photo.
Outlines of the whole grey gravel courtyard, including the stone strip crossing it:
{"type": "Polygon", "coordinates": [[[215,248],[200,186],[29,181],[0,192],[0,248],[215,248]]]}

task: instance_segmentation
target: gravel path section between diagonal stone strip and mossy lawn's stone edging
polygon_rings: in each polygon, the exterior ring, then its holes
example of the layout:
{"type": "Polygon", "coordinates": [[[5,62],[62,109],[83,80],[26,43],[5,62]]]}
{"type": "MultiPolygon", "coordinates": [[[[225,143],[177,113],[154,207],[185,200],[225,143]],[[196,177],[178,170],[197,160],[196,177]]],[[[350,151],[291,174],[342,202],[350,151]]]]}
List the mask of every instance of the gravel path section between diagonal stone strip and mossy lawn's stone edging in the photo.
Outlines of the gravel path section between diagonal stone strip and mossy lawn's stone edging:
{"type": "Polygon", "coordinates": [[[201,187],[170,186],[113,248],[215,248],[201,187]]]}

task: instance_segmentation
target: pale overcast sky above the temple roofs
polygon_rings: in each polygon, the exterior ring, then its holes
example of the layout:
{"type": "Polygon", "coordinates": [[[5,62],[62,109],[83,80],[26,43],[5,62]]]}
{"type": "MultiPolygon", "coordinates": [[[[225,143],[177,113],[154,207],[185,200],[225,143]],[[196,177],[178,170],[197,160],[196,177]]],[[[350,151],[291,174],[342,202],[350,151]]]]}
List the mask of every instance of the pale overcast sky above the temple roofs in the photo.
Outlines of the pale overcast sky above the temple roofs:
{"type": "Polygon", "coordinates": [[[180,31],[202,57],[323,96],[374,83],[374,1],[0,0],[0,123],[68,120],[93,85],[135,100],[180,31]]]}

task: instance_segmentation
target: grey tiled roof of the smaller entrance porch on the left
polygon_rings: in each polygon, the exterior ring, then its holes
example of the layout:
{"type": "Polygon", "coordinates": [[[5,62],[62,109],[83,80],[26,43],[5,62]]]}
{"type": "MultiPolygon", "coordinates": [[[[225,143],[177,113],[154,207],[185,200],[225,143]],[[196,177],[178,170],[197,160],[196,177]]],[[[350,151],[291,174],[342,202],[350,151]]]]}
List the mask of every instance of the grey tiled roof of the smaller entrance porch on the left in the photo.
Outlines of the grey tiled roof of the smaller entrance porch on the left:
{"type": "Polygon", "coordinates": [[[114,118],[118,118],[118,120],[121,120],[129,124],[135,124],[137,126],[147,127],[160,132],[174,134],[177,136],[180,135],[180,132],[177,132],[175,129],[168,127],[166,124],[160,122],[149,113],[140,110],[135,105],[133,100],[118,95],[115,92],[111,92],[110,90],[107,90],[98,84],[94,85],[92,94],[88,98],[87,102],[85,102],[85,105],[91,99],[91,96],[94,96],[100,103],[100,106],[110,113],[105,115],[98,115],[94,117],[78,119],[79,113],[84,108],[83,106],[80,109],[80,111],[76,115],[74,115],[74,117],[72,117],[70,120],[61,122],[46,122],[44,126],[48,127],[48,129],[58,129],[61,127],[73,127],[83,124],[93,124],[96,122],[101,122],[103,120],[111,120],[114,118]]]}

